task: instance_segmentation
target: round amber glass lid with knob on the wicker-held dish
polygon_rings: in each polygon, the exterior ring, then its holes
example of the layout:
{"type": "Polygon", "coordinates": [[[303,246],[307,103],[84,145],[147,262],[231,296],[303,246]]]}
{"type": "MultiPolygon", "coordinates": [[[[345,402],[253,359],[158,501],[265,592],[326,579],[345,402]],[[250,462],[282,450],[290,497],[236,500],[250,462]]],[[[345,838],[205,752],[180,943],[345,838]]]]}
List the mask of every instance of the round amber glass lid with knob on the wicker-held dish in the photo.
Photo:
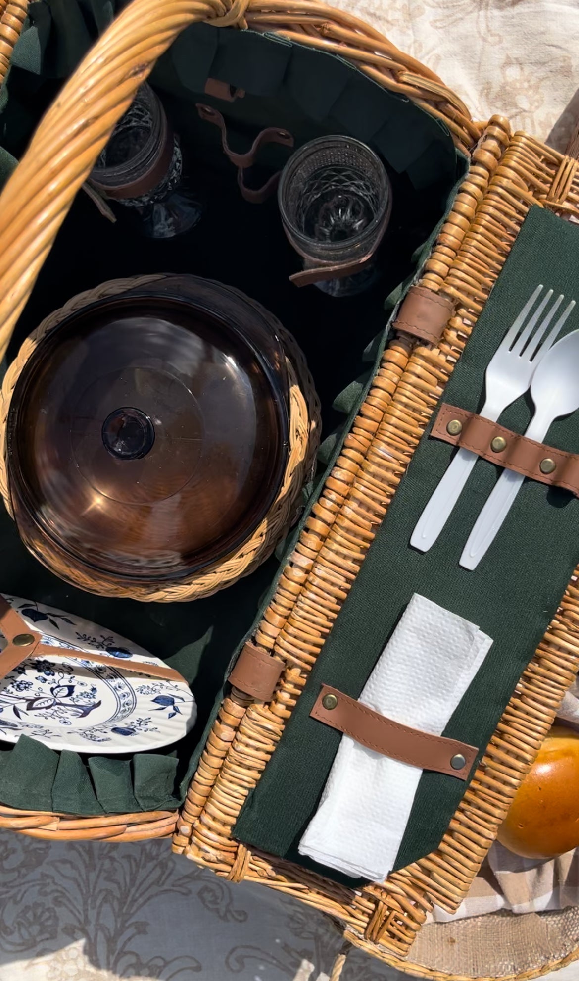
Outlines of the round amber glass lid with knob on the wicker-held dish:
{"type": "Polygon", "coordinates": [[[24,541],[41,553],[46,537],[100,574],[155,582],[251,536],[283,476],[287,409],[244,331],[260,308],[228,291],[224,309],[229,320],[191,299],[126,295],[44,338],[8,420],[24,541]]]}

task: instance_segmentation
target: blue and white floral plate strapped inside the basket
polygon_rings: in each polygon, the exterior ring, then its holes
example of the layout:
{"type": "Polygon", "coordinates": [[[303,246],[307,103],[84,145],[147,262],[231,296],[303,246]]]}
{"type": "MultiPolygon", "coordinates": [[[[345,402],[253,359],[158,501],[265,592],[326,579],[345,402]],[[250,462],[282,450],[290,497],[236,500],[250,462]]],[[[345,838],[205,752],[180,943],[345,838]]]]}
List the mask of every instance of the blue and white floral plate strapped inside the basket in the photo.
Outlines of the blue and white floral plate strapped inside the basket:
{"type": "MultiPolygon", "coordinates": [[[[70,660],[29,658],[0,681],[0,741],[29,736],[52,749],[106,753],[159,749],[193,726],[195,699],[185,680],[147,678],[122,662],[163,665],[142,647],[72,613],[5,598],[42,644],[70,648],[70,660]],[[91,664],[90,651],[119,658],[119,669],[91,664]]],[[[6,646],[0,634],[0,649],[6,646]]]]}

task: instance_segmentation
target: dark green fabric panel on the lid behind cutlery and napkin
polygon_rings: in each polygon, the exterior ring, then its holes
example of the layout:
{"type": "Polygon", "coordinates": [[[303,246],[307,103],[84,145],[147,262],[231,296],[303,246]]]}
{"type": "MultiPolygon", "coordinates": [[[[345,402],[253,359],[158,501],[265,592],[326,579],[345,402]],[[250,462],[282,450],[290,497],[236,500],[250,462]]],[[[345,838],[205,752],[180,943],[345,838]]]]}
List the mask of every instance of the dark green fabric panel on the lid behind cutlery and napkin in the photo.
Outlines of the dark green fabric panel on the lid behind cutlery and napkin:
{"type": "MultiPolygon", "coordinates": [[[[444,401],[471,410],[480,407],[485,367],[507,326],[539,283],[549,284],[555,295],[576,295],[578,262],[579,229],[532,208],[444,401]]],[[[571,315],[566,329],[578,326],[579,316],[571,315]]],[[[503,413],[501,422],[523,432],[531,412],[528,397],[521,398],[503,413]]],[[[555,422],[548,439],[579,451],[577,416],[555,422]]],[[[453,452],[452,446],[428,435],[421,439],[282,740],[237,821],[234,834],[242,842],[303,861],[296,846],[340,741],[338,732],[310,718],[320,684],[359,697],[413,593],[466,617],[493,638],[444,733],[481,752],[486,747],[579,558],[579,500],[565,490],[526,481],[495,542],[477,569],[468,572],[458,566],[458,558],[500,473],[491,463],[477,462],[435,545],[426,553],[409,545],[412,529],[453,452]]],[[[464,784],[452,777],[422,775],[397,866],[436,848],[463,793],[464,784]]]]}

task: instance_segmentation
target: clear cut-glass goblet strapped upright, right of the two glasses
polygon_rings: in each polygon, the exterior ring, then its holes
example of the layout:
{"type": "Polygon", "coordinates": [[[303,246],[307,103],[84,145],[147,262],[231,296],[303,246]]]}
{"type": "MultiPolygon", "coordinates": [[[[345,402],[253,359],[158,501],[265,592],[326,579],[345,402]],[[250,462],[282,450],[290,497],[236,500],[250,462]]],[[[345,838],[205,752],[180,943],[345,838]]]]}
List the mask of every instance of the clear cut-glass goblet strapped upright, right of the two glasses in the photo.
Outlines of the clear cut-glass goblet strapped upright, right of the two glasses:
{"type": "Polygon", "coordinates": [[[392,187],[373,150],[342,135],[306,143],[283,170],[278,201],[287,237],[304,259],[296,284],[353,296],[376,281],[392,187]]]}

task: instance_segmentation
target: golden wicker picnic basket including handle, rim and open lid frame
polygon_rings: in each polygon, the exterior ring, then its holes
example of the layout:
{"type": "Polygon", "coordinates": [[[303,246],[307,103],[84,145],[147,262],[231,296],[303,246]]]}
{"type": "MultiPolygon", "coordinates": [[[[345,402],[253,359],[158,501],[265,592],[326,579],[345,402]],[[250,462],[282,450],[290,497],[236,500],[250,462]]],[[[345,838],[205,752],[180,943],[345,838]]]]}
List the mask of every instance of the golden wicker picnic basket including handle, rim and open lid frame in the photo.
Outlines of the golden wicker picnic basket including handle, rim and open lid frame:
{"type": "MultiPolygon", "coordinates": [[[[8,71],[26,7],[26,0],[0,2],[0,77],[8,71]]],[[[332,978],[352,946],[426,977],[538,976],[579,957],[576,909],[533,916],[531,923],[528,917],[493,914],[458,925],[422,924],[433,904],[452,912],[466,895],[574,678],[574,578],[435,852],[393,873],[385,885],[353,893],[251,851],[232,838],[231,829],[282,735],[529,207],[579,217],[579,164],[526,133],[512,134],[503,118],[474,123],[432,72],[370,26],[317,2],[133,0],[63,87],[2,194],[2,355],[72,200],[116,122],[156,60],[197,21],[273,31],[337,52],[445,124],[458,149],[470,156],[470,168],[419,283],[451,297],[456,310],[440,343],[399,333],[384,350],[254,634],[255,643],[283,664],[276,692],[269,703],[235,689],[224,698],[182,812],[83,818],[4,806],[0,826],[56,840],[136,841],[174,830],[175,852],[229,881],[263,883],[329,915],[345,938],[332,978]],[[538,930],[548,938],[549,955],[531,942],[538,930]]]]}

